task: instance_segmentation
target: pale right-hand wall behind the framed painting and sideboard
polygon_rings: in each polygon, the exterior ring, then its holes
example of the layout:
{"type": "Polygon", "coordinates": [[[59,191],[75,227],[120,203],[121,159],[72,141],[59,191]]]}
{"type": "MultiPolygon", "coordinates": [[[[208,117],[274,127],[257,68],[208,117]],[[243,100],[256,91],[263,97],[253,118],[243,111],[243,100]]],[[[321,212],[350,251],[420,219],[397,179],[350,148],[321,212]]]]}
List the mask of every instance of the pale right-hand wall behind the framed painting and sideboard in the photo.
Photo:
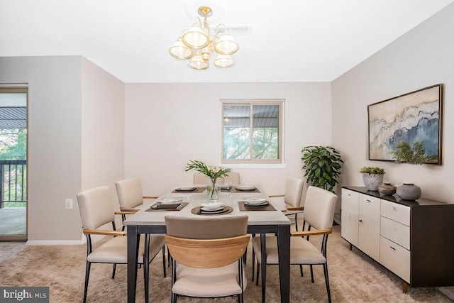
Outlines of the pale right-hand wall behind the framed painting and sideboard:
{"type": "Polygon", "coordinates": [[[332,82],[333,145],[343,153],[342,184],[362,186],[362,166],[386,170],[385,182],[414,182],[423,197],[454,203],[454,4],[332,82]],[[443,165],[367,160],[367,105],[445,84],[443,165]]]}

